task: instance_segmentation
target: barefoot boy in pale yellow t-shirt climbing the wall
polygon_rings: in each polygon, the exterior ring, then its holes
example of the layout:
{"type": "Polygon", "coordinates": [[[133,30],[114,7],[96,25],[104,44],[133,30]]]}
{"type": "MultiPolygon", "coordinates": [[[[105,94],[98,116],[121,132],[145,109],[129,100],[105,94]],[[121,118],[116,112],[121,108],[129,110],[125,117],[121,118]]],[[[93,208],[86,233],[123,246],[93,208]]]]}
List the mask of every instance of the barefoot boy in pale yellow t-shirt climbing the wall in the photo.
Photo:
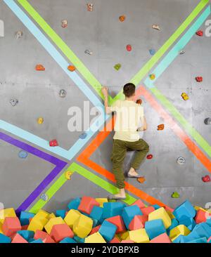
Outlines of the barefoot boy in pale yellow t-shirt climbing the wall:
{"type": "Polygon", "coordinates": [[[128,83],[124,85],[123,93],[125,100],[117,100],[109,107],[108,88],[106,86],[102,88],[102,93],[105,97],[106,114],[116,113],[111,160],[113,162],[113,174],[120,192],[117,195],[110,196],[110,199],[126,199],[122,166],[127,150],[136,151],[131,168],[127,174],[129,178],[141,177],[136,171],[149,151],[148,144],[139,135],[140,131],[146,131],[147,124],[143,115],[143,107],[134,102],[135,91],[136,86],[134,84],[128,83]],[[140,122],[142,126],[139,127],[140,122]]]}

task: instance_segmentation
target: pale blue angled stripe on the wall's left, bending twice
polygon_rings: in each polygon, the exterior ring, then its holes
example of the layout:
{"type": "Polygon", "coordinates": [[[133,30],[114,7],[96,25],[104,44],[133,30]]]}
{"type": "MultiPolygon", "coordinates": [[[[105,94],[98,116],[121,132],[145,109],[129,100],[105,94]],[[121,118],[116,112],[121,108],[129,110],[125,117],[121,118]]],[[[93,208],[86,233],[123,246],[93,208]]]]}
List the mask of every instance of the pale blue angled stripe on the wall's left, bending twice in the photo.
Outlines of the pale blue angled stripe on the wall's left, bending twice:
{"type": "MultiPolygon", "coordinates": [[[[11,8],[11,11],[15,13],[15,15],[23,22],[25,27],[30,30],[30,32],[34,35],[34,37],[39,41],[39,43],[46,49],[46,51],[51,55],[51,57],[56,60],[58,65],[63,69],[63,71],[72,79],[72,81],[75,82],[75,84],[79,87],[79,89],[84,93],[84,95],[89,98],[91,103],[93,103],[94,106],[98,107],[98,109],[104,110],[103,105],[101,101],[92,93],[92,91],[89,89],[89,86],[85,84],[85,82],[79,77],[77,72],[70,72],[68,70],[68,63],[62,55],[56,50],[56,48],[51,44],[49,39],[47,39],[44,34],[38,29],[36,25],[30,20],[30,18],[23,13],[23,11],[20,9],[20,7],[15,4],[13,0],[4,0],[4,2],[7,4],[9,8],[11,8]]],[[[106,119],[109,119],[109,116],[106,115],[106,119]]],[[[18,136],[20,138],[23,138],[34,145],[38,145],[39,147],[42,147],[49,152],[53,152],[55,154],[58,154],[61,157],[64,157],[66,159],[72,159],[72,157],[79,152],[80,149],[89,141],[91,136],[94,135],[94,133],[104,124],[104,114],[99,117],[94,124],[88,129],[87,137],[84,139],[79,139],[77,142],[72,145],[70,150],[65,150],[61,147],[50,147],[49,141],[44,140],[42,138],[39,138],[38,136],[33,135],[30,132],[24,131],[23,129],[18,128],[17,126],[14,126],[12,124],[8,124],[6,121],[0,120],[0,128],[4,129],[5,131],[8,131],[10,133],[13,133],[15,136],[18,136]]]]}

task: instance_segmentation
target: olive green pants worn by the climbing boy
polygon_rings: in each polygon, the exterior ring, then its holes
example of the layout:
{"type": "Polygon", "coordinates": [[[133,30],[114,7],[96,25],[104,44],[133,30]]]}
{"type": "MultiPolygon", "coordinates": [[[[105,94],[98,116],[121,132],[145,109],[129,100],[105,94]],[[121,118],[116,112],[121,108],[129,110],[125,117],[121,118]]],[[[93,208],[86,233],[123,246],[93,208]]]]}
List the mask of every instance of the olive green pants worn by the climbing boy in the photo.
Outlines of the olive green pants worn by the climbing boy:
{"type": "Polygon", "coordinates": [[[124,172],[122,169],[124,158],[127,151],[136,151],[134,160],[131,167],[135,170],[139,169],[141,162],[146,157],[149,151],[148,144],[143,140],[139,139],[135,142],[128,142],[123,140],[113,140],[113,150],[111,154],[111,160],[113,162],[113,174],[117,181],[118,188],[124,188],[124,172]]]}

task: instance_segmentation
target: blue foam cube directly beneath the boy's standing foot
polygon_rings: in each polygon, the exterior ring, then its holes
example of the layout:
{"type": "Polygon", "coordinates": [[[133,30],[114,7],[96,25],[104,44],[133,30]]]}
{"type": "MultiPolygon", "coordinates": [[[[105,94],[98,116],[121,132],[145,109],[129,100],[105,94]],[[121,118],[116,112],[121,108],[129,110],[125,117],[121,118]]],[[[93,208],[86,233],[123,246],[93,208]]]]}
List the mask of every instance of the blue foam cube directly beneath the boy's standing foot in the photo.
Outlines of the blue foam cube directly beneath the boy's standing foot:
{"type": "Polygon", "coordinates": [[[122,215],[125,204],[122,202],[105,202],[103,204],[103,219],[122,215]]]}

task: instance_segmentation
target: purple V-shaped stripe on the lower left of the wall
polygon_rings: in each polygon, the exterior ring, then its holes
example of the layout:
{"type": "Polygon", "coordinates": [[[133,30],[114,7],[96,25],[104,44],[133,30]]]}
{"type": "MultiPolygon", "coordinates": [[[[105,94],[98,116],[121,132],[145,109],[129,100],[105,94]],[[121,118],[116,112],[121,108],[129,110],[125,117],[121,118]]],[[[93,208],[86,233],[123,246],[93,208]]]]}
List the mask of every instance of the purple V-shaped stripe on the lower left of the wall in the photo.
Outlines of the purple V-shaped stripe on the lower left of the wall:
{"type": "Polygon", "coordinates": [[[30,194],[25,201],[20,204],[18,209],[16,210],[16,213],[19,214],[20,211],[25,211],[34,200],[39,197],[41,192],[51,183],[51,181],[56,178],[58,173],[63,170],[63,168],[68,164],[67,162],[63,162],[62,160],[53,157],[50,154],[46,154],[45,152],[42,152],[41,150],[32,147],[31,145],[27,145],[26,143],[21,142],[18,139],[12,138],[11,136],[6,135],[5,133],[0,132],[0,139],[6,141],[7,143],[11,145],[15,145],[16,147],[19,147],[27,152],[30,152],[31,154],[34,154],[35,156],[46,160],[47,162],[51,162],[51,164],[55,164],[56,167],[49,173],[46,178],[34,189],[34,191],[30,194]]]}

